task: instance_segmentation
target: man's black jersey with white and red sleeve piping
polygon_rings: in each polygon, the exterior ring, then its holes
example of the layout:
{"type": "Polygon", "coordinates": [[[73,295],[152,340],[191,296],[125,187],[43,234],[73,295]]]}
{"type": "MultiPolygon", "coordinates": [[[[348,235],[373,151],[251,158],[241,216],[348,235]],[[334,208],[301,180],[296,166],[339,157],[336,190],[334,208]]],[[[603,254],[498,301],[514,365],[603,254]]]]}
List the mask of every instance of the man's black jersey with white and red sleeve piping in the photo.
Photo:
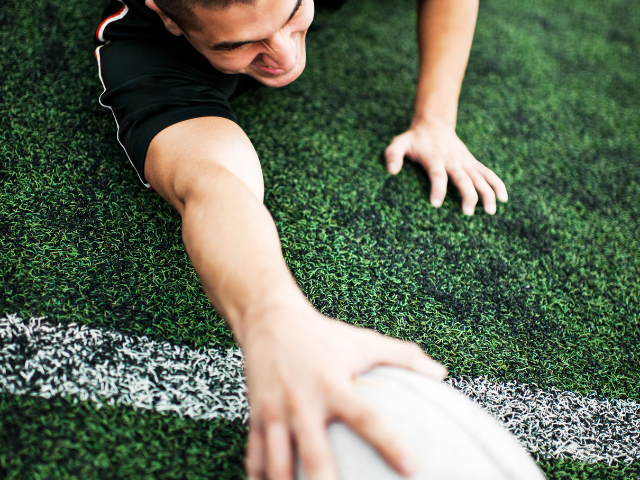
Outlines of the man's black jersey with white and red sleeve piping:
{"type": "Polygon", "coordinates": [[[216,70],[183,36],[172,35],[144,0],[112,0],[95,41],[100,104],[113,112],[118,141],[147,187],[144,161],[160,131],[206,116],[237,122],[229,100],[257,84],[216,70]]]}

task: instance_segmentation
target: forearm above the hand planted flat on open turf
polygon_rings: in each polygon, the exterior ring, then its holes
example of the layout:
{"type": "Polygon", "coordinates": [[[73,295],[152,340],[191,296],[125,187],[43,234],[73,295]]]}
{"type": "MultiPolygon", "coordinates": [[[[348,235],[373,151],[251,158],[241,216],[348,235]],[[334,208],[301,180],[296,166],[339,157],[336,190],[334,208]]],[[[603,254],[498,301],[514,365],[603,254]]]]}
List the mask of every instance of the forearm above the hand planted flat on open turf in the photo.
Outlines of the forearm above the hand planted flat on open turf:
{"type": "Polygon", "coordinates": [[[478,0],[420,0],[420,66],[413,124],[444,121],[455,126],[478,0]]]}

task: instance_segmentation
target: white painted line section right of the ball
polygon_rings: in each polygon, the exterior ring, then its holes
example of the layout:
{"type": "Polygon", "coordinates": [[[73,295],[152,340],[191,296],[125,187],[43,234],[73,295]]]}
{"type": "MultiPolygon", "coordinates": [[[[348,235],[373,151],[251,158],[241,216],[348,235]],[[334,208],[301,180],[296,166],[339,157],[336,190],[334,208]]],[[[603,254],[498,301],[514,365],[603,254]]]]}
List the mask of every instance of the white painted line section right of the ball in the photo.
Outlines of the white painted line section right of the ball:
{"type": "Polygon", "coordinates": [[[640,403],[482,377],[446,382],[482,405],[538,459],[610,465],[640,459],[640,403]]]}

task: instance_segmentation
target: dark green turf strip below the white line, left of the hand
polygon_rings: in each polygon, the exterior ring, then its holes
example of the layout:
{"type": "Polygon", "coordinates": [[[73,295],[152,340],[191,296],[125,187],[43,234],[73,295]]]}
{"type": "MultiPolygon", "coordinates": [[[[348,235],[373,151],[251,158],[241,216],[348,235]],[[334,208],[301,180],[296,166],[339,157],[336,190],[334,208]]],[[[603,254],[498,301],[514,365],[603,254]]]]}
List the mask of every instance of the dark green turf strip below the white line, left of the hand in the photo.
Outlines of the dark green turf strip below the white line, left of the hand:
{"type": "Polygon", "coordinates": [[[240,422],[0,395],[0,475],[19,478],[243,478],[240,422]]]}

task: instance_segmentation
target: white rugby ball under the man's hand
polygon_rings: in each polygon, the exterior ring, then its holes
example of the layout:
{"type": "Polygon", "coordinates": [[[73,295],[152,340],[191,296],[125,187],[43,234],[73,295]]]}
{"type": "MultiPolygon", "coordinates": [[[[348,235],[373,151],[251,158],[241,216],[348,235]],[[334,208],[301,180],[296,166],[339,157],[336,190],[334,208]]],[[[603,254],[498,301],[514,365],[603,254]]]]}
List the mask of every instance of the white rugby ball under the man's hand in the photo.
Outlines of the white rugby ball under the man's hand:
{"type": "MultiPolygon", "coordinates": [[[[396,367],[378,367],[356,379],[358,393],[414,449],[411,477],[392,470],[345,424],[329,425],[341,480],[543,480],[516,439],[449,385],[396,367]]],[[[299,480],[306,480],[300,462],[299,480]]]]}

